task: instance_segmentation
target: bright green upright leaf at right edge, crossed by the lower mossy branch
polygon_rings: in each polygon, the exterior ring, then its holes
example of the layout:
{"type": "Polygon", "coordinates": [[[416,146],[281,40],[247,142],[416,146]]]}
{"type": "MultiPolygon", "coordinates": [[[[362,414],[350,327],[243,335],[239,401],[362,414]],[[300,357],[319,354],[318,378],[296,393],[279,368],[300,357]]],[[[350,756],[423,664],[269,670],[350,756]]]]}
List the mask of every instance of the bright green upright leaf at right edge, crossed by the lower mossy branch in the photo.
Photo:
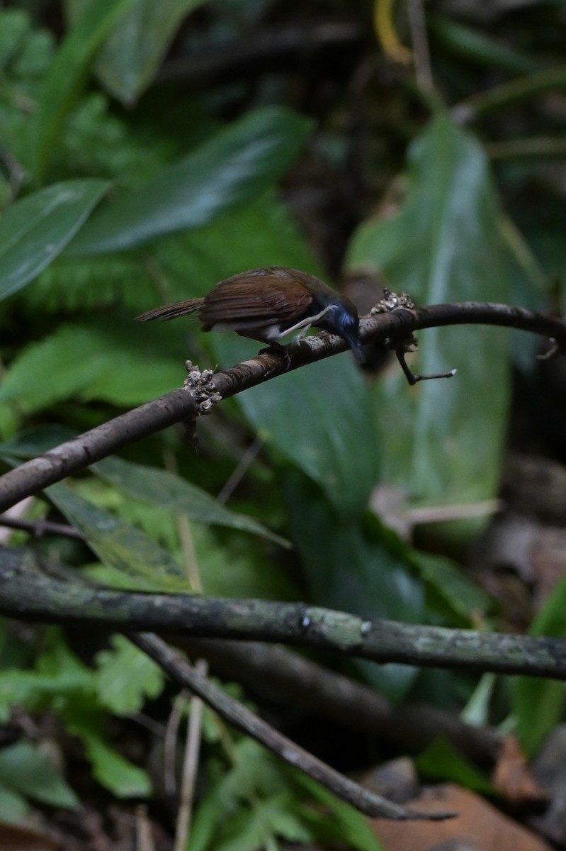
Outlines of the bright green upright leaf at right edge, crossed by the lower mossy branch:
{"type": "MultiPolygon", "coordinates": [[[[566,636],[566,578],[558,582],[530,625],[529,635],[566,636]]],[[[512,713],[524,751],[538,751],[546,736],[563,717],[566,683],[540,677],[513,677],[512,713]]]]}

